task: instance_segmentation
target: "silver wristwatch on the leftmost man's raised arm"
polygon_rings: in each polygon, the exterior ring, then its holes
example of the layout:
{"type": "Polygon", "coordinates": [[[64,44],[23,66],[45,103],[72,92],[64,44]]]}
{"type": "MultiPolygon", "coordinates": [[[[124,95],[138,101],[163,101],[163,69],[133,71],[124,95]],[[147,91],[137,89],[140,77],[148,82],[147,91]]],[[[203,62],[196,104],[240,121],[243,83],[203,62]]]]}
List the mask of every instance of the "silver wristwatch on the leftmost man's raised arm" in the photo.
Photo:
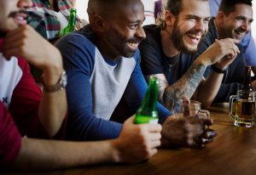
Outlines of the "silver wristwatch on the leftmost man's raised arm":
{"type": "Polygon", "coordinates": [[[44,80],[42,80],[43,88],[46,93],[54,93],[56,91],[59,91],[61,89],[66,88],[67,86],[67,74],[66,71],[63,71],[61,73],[61,77],[58,80],[58,82],[55,85],[47,86],[44,84],[44,80]]]}

